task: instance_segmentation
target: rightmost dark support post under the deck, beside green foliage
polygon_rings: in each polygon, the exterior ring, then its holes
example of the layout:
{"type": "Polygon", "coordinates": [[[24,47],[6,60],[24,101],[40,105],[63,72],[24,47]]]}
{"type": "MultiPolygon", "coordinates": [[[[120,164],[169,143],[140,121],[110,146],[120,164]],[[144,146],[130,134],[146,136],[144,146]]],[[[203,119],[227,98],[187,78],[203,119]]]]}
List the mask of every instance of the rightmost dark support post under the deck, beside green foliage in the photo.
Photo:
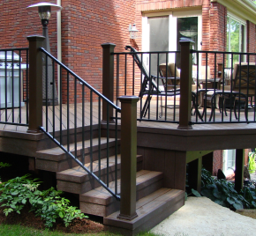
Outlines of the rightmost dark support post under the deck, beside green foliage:
{"type": "Polygon", "coordinates": [[[236,150],[236,174],[235,174],[235,189],[240,192],[244,188],[244,166],[245,155],[243,149],[236,150]]]}

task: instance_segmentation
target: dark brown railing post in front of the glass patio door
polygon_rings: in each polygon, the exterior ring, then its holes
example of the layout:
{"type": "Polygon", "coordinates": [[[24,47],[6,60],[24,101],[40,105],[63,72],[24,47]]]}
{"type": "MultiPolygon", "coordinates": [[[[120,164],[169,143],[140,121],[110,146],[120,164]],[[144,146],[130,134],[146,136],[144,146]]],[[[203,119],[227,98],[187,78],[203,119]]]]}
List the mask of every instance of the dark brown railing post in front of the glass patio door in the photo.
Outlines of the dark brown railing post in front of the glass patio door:
{"type": "Polygon", "coordinates": [[[179,125],[177,129],[192,129],[192,43],[193,41],[179,41],[180,43],[180,105],[179,125]]]}

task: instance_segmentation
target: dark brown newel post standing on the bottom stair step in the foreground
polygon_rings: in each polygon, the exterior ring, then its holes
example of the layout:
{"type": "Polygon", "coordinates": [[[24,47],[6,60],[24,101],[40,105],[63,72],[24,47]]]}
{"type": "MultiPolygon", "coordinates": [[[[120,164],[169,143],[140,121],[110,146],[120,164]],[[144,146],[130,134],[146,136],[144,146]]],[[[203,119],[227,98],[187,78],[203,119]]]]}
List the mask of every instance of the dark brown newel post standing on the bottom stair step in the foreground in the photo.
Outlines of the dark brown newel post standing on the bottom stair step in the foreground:
{"type": "Polygon", "coordinates": [[[121,101],[121,202],[117,218],[132,220],[136,213],[137,102],[136,96],[121,101]]]}

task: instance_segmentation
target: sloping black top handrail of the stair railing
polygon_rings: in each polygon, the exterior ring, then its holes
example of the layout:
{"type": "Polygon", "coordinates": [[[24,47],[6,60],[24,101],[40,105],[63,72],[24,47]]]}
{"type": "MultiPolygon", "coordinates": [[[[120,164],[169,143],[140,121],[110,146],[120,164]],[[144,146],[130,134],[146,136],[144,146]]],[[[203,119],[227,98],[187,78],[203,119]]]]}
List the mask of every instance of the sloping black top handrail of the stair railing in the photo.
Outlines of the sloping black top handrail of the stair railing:
{"type": "Polygon", "coordinates": [[[107,99],[105,96],[102,95],[101,92],[98,92],[96,89],[94,89],[93,86],[89,85],[85,80],[83,80],[81,77],[79,77],[76,73],[74,73],[72,70],[70,70],[68,67],[66,67],[64,65],[64,63],[59,62],[56,57],[54,57],[53,55],[49,54],[49,52],[47,50],[45,50],[44,48],[40,48],[41,51],[43,53],[45,53],[46,55],[48,55],[52,60],[54,60],[57,64],[61,65],[65,70],[69,71],[72,76],[77,77],[79,79],[79,82],[81,82],[82,84],[86,85],[88,89],[92,90],[95,94],[97,94],[99,97],[102,98],[102,100],[105,100],[106,102],[109,103],[109,105],[115,109],[117,109],[118,112],[121,112],[121,108],[117,107],[112,101],[110,101],[109,99],[107,99]]]}

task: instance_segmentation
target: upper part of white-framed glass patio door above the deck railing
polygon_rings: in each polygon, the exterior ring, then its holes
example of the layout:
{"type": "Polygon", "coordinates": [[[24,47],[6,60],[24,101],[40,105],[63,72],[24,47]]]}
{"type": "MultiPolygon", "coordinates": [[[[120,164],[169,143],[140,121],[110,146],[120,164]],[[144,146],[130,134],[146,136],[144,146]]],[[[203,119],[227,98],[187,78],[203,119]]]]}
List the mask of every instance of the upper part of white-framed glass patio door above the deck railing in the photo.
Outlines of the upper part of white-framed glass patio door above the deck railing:
{"type": "MultiPolygon", "coordinates": [[[[201,48],[201,11],[175,11],[149,13],[142,18],[142,51],[177,51],[180,49],[180,38],[192,39],[194,49],[201,48]]],[[[151,57],[151,73],[156,75],[156,55],[151,57]],[[155,57],[155,58],[154,58],[155,57]]],[[[143,61],[148,66],[148,58],[143,61]]],[[[168,62],[177,62],[180,68],[179,55],[170,54],[168,62]]],[[[159,63],[165,63],[163,55],[159,63]]],[[[194,62],[196,58],[194,58],[194,62]]]]}

